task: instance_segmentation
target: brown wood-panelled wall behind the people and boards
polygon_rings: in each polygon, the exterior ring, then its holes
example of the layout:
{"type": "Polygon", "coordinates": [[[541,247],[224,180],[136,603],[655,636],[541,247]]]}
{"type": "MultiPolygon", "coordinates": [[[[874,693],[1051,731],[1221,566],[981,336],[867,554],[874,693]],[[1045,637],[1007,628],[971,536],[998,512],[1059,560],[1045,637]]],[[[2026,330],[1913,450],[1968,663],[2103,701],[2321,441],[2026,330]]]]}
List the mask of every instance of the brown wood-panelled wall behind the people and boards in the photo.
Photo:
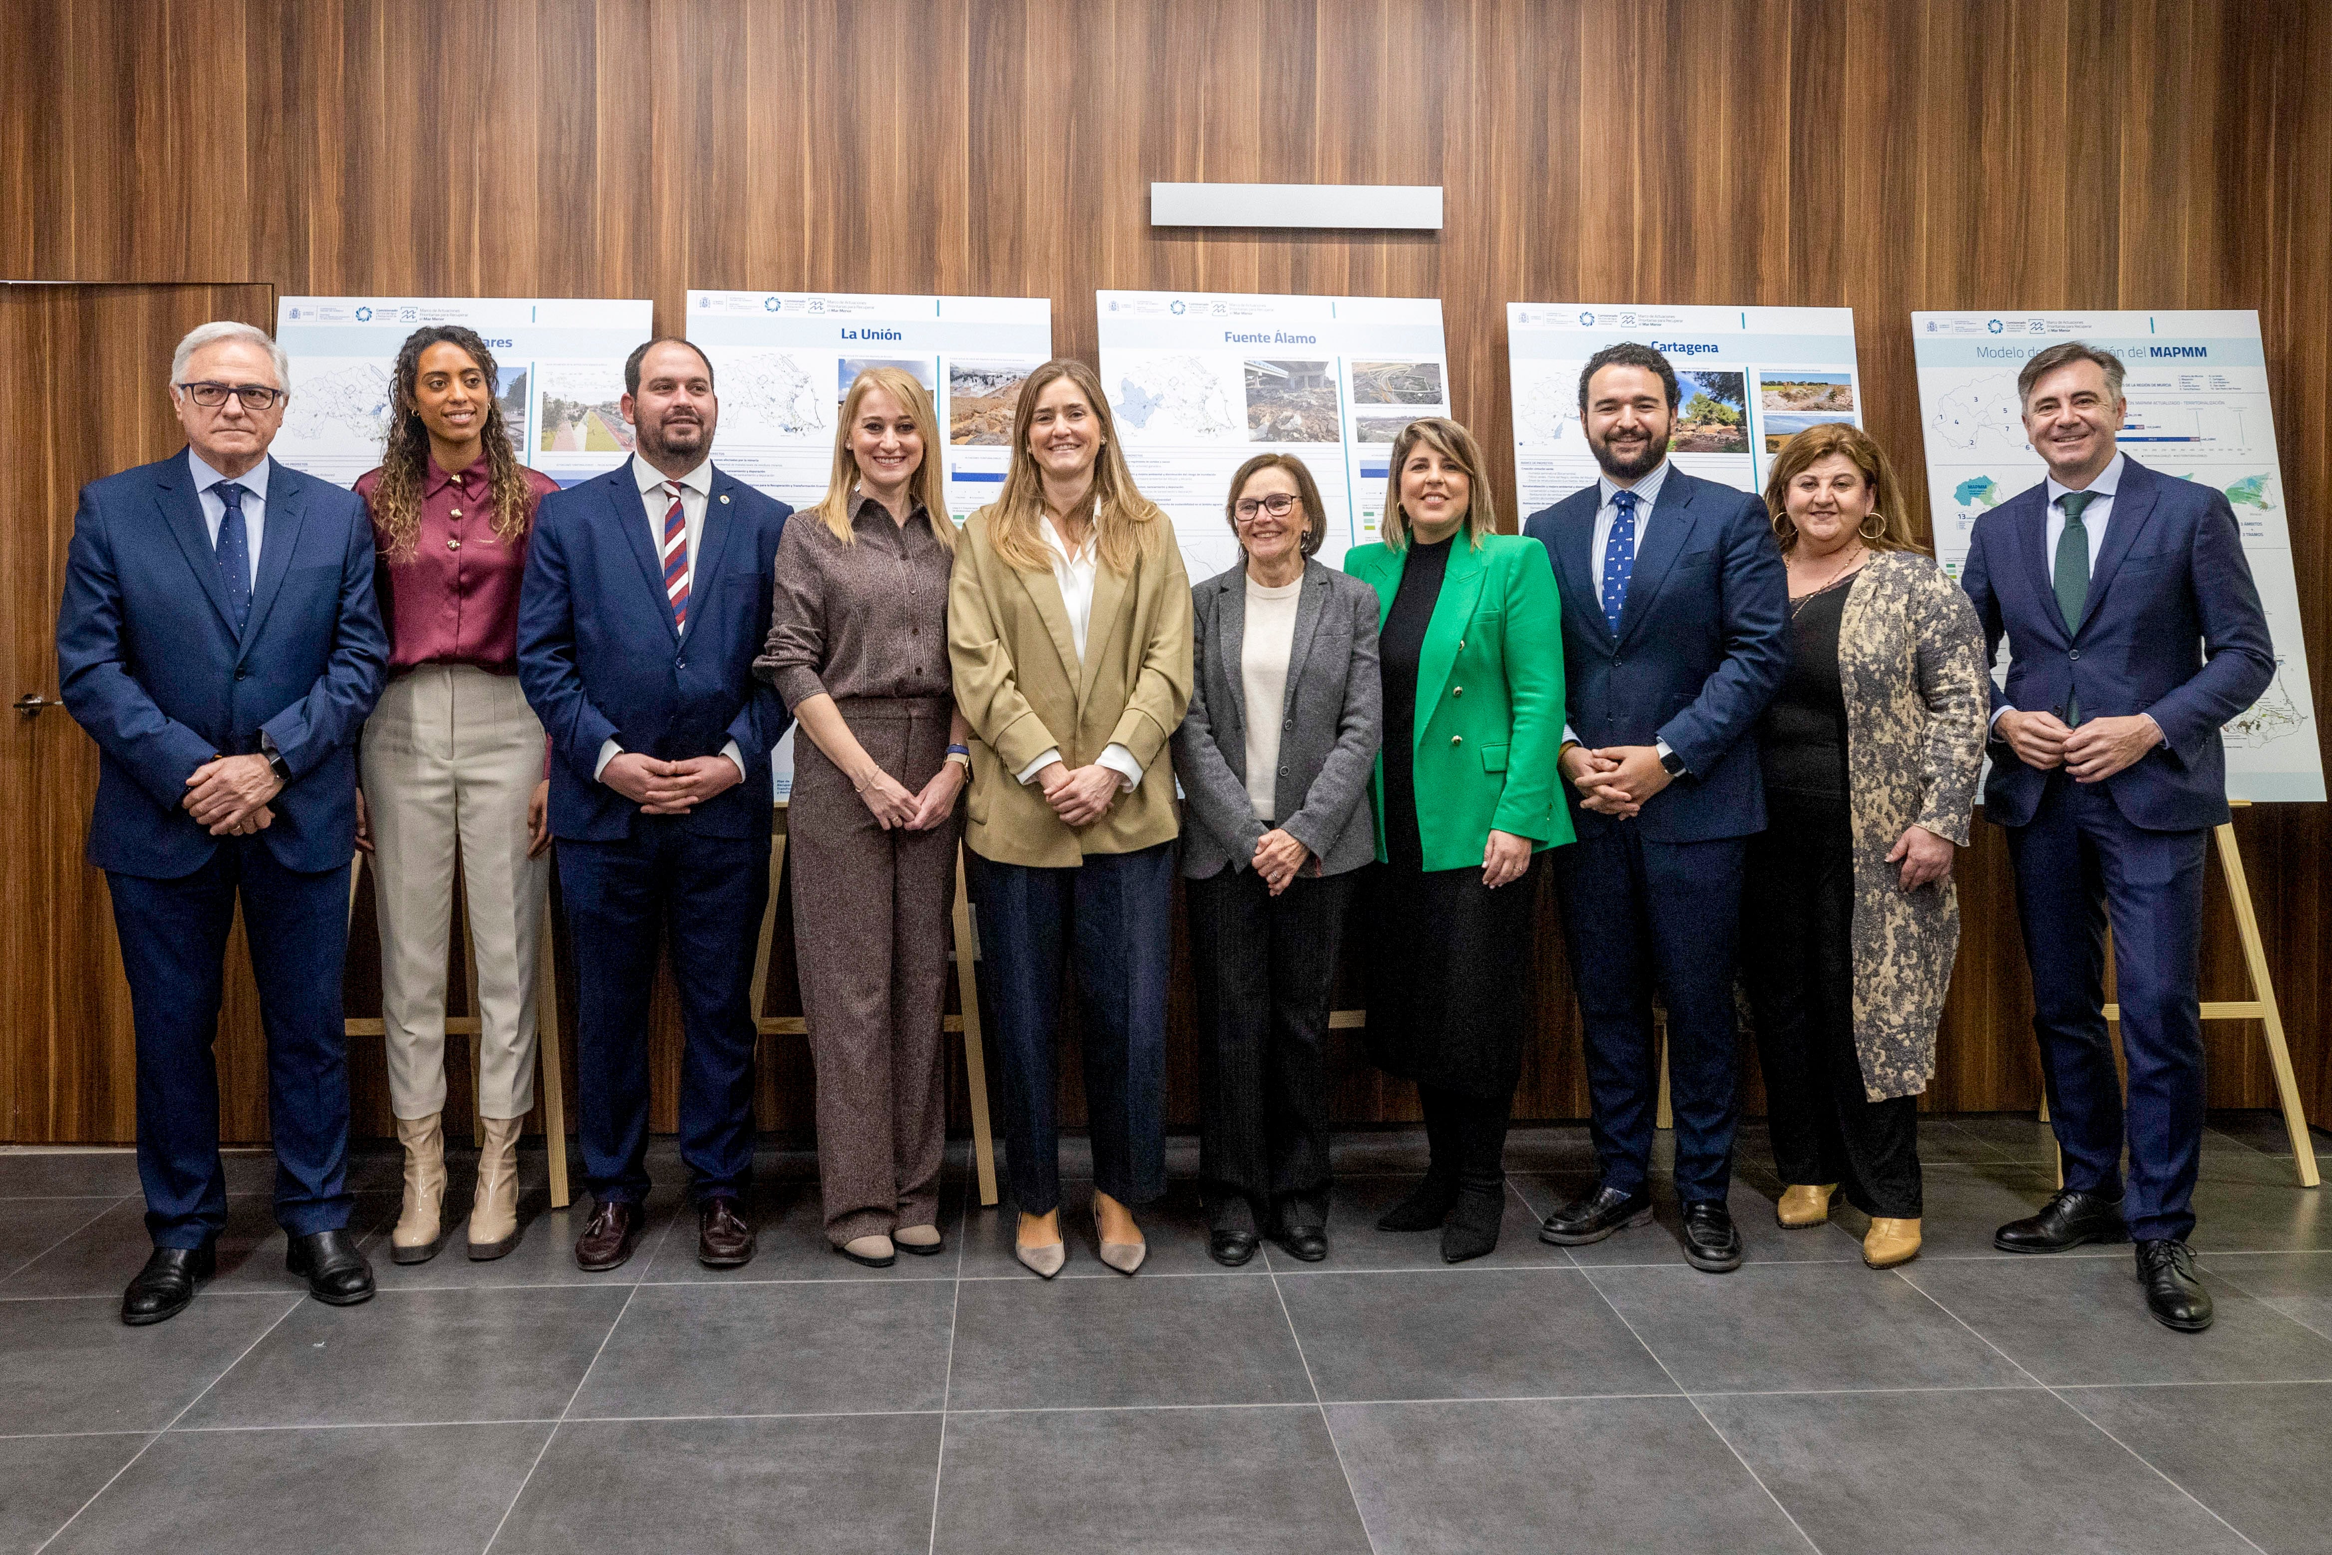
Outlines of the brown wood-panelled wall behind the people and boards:
{"type": "MultiPolygon", "coordinates": [[[[1915,308],[2257,308],[2332,683],[2311,0],[0,0],[0,275],[648,296],[667,331],[688,287],[1049,296],[1087,359],[1098,287],[1439,296],[1506,525],[1509,301],[1852,305],[1870,427],[1912,476],[1915,308]],[[1150,180],[1437,182],[1448,226],[1164,231],[1150,180]]],[[[2239,832],[2325,1114],[2332,828],[2274,807],[2239,832]]],[[[2029,1107],[1999,832],[1961,884],[1931,1103],[2029,1107]]],[[[2206,991],[2234,995],[2215,886],[2208,914],[2206,991]]],[[[1534,974],[1518,1110],[1574,1117],[1551,916],[1534,974]]],[[[658,1009],[669,1068],[669,988],[658,1009]]],[[[2213,1100],[2264,1103],[2255,1030],[2208,1042],[2213,1100]]],[[[800,1044],[772,1077],[763,1119],[807,1121],[800,1044]]],[[[1178,1117],[1187,1086],[1185,1054],[1178,1117]]],[[[1348,1117],[1411,1105],[1346,1056],[1348,1117]]]]}

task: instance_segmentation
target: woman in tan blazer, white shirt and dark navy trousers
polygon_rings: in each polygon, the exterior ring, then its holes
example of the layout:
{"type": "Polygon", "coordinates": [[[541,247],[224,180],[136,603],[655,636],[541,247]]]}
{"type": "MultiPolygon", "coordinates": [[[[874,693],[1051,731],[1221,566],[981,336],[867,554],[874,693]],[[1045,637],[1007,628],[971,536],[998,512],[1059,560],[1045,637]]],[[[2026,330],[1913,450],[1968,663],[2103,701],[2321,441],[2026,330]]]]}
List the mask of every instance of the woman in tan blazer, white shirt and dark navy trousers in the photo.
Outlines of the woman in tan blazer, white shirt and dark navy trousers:
{"type": "Polygon", "coordinates": [[[1101,380],[1047,361],[1012,413],[1003,494],[956,546],[947,643],[972,730],[970,891],[996,998],[1019,1261],[1061,1273],[1054,1023],[1077,963],[1101,1261],[1140,1268],[1166,1191],[1173,762],[1189,576],[1133,490],[1101,380]]]}

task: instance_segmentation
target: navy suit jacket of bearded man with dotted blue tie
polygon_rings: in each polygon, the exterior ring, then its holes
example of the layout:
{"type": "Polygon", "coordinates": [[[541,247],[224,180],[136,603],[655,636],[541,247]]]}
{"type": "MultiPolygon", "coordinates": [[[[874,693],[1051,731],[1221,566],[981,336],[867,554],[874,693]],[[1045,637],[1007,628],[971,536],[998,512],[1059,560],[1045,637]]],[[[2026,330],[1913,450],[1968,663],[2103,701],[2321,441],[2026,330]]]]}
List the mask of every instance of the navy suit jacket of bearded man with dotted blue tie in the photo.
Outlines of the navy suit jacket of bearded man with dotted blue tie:
{"type": "MultiPolygon", "coordinates": [[[[1789,571],[1765,504],[1670,466],[1628,574],[1618,636],[1602,613],[1595,511],[1602,487],[1541,508],[1523,534],[1546,546],[1562,590],[1562,678],[1572,732],[1588,746],[1649,746],[1686,776],[1635,825],[1653,842],[1709,842],[1765,830],[1765,783],[1749,732],[1789,669],[1789,571]]],[[[1560,786],[1581,837],[1602,825],[1560,786]]]]}

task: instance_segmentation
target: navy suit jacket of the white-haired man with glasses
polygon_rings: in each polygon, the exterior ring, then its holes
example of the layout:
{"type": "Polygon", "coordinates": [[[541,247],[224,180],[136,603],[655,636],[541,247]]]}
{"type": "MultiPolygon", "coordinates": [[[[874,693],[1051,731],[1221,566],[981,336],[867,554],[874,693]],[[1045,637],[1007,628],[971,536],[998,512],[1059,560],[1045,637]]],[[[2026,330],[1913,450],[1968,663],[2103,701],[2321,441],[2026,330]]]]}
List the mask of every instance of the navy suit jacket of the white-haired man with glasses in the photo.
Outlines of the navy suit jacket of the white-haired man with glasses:
{"type": "Polygon", "coordinates": [[[238,634],[184,450],[82,487],[56,676],[98,741],[98,870],[180,879],[210,863],[219,839],[184,811],[187,779],[259,753],[261,732],[292,769],[259,832],[275,860],[322,874],[357,851],[357,732],[389,664],[373,522],[354,492],[268,459],[261,525],[238,634]]]}

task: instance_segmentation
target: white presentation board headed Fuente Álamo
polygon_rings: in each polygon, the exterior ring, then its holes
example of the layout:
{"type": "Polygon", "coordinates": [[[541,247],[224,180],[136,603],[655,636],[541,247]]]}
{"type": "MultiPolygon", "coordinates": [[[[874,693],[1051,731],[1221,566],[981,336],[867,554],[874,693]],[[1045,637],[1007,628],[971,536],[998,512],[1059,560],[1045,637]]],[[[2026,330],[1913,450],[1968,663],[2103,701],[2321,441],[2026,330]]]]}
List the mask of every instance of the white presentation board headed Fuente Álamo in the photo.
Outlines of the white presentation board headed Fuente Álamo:
{"type": "Polygon", "coordinates": [[[1192,583],[1238,562],[1222,508],[1250,457],[1304,459],[1336,567],[1376,539],[1392,438],[1451,413],[1439,298],[1096,291],[1094,305],[1126,464],[1173,520],[1192,583]]]}

